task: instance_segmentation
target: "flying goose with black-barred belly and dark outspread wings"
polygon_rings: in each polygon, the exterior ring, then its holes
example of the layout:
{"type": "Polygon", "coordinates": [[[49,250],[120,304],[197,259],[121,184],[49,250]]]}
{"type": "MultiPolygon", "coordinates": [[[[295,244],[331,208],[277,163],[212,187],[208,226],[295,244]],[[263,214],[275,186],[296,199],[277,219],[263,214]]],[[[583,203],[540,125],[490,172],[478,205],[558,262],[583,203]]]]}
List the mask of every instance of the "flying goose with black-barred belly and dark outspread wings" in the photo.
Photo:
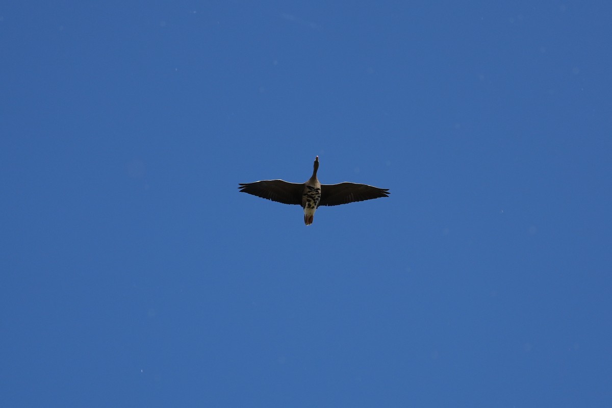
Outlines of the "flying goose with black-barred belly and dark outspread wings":
{"type": "Polygon", "coordinates": [[[283,204],[299,204],[304,208],[304,223],[312,224],[319,206],[339,206],[349,202],[388,197],[389,188],[378,188],[366,184],[343,182],[321,184],[316,178],[319,157],[315,157],[312,176],[305,183],[289,183],[285,180],[260,180],[239,183],[241,193],[247,193],[283,204]]]}

